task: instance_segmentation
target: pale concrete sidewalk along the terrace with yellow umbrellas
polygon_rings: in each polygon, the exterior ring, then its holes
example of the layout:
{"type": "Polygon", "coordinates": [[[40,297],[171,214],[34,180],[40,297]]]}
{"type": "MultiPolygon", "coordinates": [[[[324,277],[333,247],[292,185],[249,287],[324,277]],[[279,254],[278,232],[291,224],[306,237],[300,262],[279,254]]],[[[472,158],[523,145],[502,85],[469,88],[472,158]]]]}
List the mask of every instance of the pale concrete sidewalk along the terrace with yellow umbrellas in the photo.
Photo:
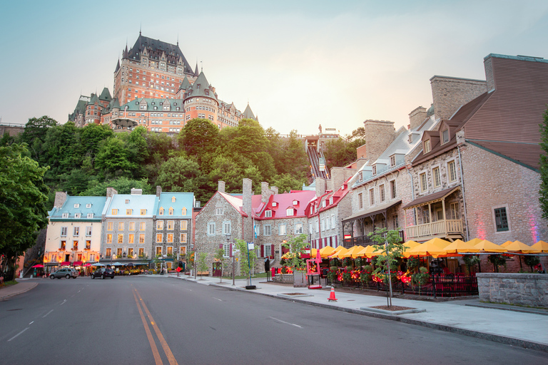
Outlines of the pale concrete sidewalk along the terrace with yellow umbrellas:
{"type": "MultiPolygon", "coordinates": [[[[501,342],[512,346],[520,346],[540,351],[548,351],[548,311],[543,309],[527,309],[502,304],[481,303],[478,299],[463,299],[447,302],[430,302],[392,298],[392,305],[424,309],[420,313],[394,314],[394,312],[370,312],[369,307],[387,304],[386,297],[364,294],[336,292],[337,302],[329,302],[330,288],[310,290],[307,287],[295,288],[280,284],[265,282],[265,278],[253,279],[255,290],[246,290],[246,280],[237,279],[233,286],[232,280],[218,277],[188,277],[169,275],[198,284],[225,287],[250,294],[262,294],[278,299],[290,300],[337,309],[344,312],[362,314],[370,317],[391,319],[408,324],[416,324],[432,329],[450,331],[466,336],[473,336],[489,341],[501,342]],[[290,295],[287,295],[290,294],[290,295]],[[515,309],[515,310],[513,310],[515,309]]],[[[374,309],[373,309],[374,310],[374,309]]]]}

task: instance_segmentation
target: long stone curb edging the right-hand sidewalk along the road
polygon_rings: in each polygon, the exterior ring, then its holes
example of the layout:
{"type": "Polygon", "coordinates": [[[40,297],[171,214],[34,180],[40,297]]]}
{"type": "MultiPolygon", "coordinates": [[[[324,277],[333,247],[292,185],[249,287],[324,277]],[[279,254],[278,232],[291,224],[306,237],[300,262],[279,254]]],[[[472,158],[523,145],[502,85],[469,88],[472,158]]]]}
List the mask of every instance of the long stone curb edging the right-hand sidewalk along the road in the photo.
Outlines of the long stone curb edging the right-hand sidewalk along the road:
{"type": "MultiPolygon", "coordinates": [[[[214,283],[209,284],[209,285],[212,286],[212,287],[220,287],[220,288],[225,288],[225,289],[228,289],[228,290],[235,290],[235,291],[239,291],[239,292],[250,292],[249,290],[240,289],[240,288],[237,288],[237,287],[236,288],[223,287],[221,285],[214,284],[214,283]]],[[[250,292],[250,293],[253,293],[253,292],[250,292]]],[[[366,312],[366,311],[363,311],[363,310],[360,310],[360,309],[335,307],[335,306],[330,305],[330,304],[307,302],[305,300],[299,300],[298,298],[285,298],[285,297],[280,297],[280,296],[274,295],[274,294],[266,294],[266,293],[259,293],[259,292],[255,292],[254,294],[260,294],[260,295],[264,295],[265,297],[288,300],[288,301],[291,301],[291,302],[297,302],[297,303],[301,303],[301,304],[308,304],[308,305],[312,305],[314,307],[321,307],[321,308],[326,308],[326,309],[335,309],[335,310],[338,310],[338,311],[341,311],[341,312],[347,312],[347,313],[353,313],[353,314],[361,314],[362,316],[367,316],[367,317],[374,317],[374,318],[379,318],[379,319],[390,319],[392,321],[402,322],[402,323],[406,323],[406,324],[415,324],[417,326],[427,327],[427,328],[430,328],[430,329],[437,329],[437,330],[440,330],[440,331],[451,332],[451,333],[454,333],[454,334],[462,334],[464,336],[475,337],[477,339],[484,339],[484,340],[487,340],[487,341],[498,342],[499,344],[508,344],[508,345],[512,345],[512,346],[523,347],[525,349],[533,349],[533,350],[537,350],[537,351],[548,352],[548,344],[540,344],[539,342],[527,341],[527,340],[524,340],[524,339],[516,339],[514,337],[502,336],[502,335],[499,335],[499,334],[490,334],[490,333],[482,332],[482,331],[474,331],[472,329],[461,329],[461,328],[457,328],[457,327],[447,326],[446,324],[437,324],[437,323],[420,321],[418,319],[398,317],[398,316],[393,315],[393,314],[382,314],[382,313],[366,312]]]]}

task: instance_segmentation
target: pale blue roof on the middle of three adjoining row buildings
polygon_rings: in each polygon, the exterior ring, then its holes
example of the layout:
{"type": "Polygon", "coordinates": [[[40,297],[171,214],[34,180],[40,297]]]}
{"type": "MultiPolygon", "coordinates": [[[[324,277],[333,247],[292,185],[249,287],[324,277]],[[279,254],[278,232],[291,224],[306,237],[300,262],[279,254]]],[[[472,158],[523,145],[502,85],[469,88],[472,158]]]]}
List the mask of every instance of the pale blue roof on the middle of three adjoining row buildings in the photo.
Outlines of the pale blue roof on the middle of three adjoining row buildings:
{"type": "Polygon", "coordinates": [[[156,205],[158,199],[156,195],[131,195],[131,194],[116,194],[112,196],[111,204],[105,212],[106,217],[141,217],[152,218],[156,214],[156,205]],[[118,214],[113,215],[112,210],[117,209],[118,214]],[[131,214],[126,214],[127,210],[131,210],[131,214]],[[141,215],[141,209],[146,209],[146,213],[141,215]]]}

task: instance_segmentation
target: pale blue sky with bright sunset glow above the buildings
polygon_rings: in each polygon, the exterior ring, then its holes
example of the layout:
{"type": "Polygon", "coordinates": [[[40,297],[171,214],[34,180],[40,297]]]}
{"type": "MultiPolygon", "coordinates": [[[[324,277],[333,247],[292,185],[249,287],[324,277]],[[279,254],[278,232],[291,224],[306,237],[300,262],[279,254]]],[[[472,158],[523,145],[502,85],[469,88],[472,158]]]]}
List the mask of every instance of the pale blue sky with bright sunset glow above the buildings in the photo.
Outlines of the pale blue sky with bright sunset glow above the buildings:
{"type": "Polygon", "coordinates": [[[218,97],[281,134],[407,126],[430,78],[484,80],[489,53],[548,58],[548,1],[10,1],[0,14],[1,124],[65,123],[113,93],[126,43],[177,43],[218,97]]]}

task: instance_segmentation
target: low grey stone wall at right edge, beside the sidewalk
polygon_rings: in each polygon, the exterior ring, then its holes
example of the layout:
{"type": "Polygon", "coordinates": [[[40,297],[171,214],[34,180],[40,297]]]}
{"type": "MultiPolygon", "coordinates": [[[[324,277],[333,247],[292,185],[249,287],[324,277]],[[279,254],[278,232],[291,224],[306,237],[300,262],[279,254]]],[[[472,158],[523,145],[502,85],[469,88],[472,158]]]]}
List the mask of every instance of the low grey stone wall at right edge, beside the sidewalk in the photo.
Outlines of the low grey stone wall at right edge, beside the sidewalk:
{"type": "Polygon", "coordinates": [[[476,274],[480,300],[548,307],[547,274],[476,274]]]}

